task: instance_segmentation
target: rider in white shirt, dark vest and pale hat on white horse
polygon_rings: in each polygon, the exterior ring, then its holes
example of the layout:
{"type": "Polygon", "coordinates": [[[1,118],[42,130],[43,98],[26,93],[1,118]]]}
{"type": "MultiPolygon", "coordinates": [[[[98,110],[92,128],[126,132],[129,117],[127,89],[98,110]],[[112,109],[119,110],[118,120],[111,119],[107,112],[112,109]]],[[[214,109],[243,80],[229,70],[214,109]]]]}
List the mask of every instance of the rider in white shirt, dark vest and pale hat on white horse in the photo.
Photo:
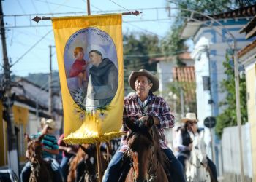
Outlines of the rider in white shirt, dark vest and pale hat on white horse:
{"type": "MultiPolygon", "coordinates": [[[[195,113],[187,113],[185,118],[181,119],[184,126],[178,128],[178,135],[176,136],[176,142],[174,147],[178,150],[178,160],[181,162],[185,169],[185,161],[189,159],[192,151],[192,143],[197,135],[200,135],[200,130],[197,128],[197,117],[195,113]]],[[[208,157],[207,164],[211,169],[215,180],[217,181],[217,170],[214,162],[208,157]]]]}

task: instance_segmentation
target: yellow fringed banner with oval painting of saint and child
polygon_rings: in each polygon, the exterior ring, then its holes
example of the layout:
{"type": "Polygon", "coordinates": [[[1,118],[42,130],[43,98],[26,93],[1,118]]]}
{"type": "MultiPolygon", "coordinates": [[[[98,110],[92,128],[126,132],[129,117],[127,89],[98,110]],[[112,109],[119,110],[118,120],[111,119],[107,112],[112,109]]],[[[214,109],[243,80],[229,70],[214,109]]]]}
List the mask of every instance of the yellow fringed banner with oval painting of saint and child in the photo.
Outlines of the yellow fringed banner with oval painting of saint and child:
{"type": "Polygon", "coordinates": [[[120,15],[52,18],[64,108],[64,141],[120,135],[124,102],[120,15]]]}

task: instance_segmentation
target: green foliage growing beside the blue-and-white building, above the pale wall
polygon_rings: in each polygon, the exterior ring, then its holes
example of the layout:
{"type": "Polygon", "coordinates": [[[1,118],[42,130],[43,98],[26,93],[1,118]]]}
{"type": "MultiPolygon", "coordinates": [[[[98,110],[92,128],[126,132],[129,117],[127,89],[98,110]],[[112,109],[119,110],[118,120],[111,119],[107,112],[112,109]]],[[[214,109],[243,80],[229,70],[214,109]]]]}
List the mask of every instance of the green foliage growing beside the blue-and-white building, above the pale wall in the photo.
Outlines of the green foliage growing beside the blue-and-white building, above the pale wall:
{"type": "MultiPolygon", "coordinates": [[[[227,92],[227,97],[219,106],[224,106],[226,109],[222,114],[217,116],[216,133],[219,137],[222,135],[223,128],[236,126],[236,90],[235,90],[235,76],[233,69],[233,60],[230,60],[226,55],[226,61],[223,63],[225,67],[225,74],[227,79],[224,79],[221,83],[222,92],[227,92]]],[[[246,111],[246,82],[245,78],[240,79],[240,102],[241,102],[241,122],[245,124],[247,122],[246,111]]]]}

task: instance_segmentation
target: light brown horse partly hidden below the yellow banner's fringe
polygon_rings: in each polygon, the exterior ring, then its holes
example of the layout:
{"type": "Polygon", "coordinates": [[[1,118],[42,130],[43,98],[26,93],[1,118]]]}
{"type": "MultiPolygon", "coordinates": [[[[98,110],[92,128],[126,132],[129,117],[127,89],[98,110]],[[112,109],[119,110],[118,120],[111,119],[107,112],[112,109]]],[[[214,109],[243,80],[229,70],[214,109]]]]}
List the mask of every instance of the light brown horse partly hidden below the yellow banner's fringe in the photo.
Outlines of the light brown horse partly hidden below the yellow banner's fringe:
{"type": "MultiPolygon", "coordinates": [[[[108,166],[108,157],[104,157],[101,153],[102,162],[102,174],[108,166]]],[[[78,153],[72,159],[69,165],[69,175],[67,176],[67,182],[75,181],[97,181],[97,153],[96,146],[93,144],[83,144],[80,146],[78,153]],[[84,173],[80,177],[77,177],[77,167],[80,162],[84,162],[84,173]],[[77,179],[80,178],[80,179],[77,179]]]]}

